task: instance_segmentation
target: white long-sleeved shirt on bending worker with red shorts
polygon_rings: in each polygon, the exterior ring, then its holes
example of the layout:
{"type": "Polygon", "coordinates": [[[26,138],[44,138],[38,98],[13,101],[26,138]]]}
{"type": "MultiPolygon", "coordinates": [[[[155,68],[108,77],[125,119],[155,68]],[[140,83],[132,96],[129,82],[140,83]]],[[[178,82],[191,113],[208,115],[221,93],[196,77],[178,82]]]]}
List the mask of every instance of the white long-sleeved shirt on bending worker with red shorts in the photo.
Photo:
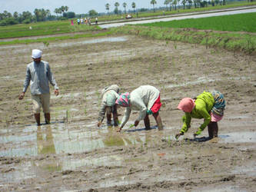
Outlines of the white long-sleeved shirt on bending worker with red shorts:
{"type": "Polygon", "coordinates": [[[130,107],[125,108],[125,115],[121,120],[121,127],[124,127],[130,118],[131,110],[140,111],[137,121],[145,118],[147,111],[150,110],[158,99],[160,92],[151,85],[142,85],[131,91],[130,107]]]}

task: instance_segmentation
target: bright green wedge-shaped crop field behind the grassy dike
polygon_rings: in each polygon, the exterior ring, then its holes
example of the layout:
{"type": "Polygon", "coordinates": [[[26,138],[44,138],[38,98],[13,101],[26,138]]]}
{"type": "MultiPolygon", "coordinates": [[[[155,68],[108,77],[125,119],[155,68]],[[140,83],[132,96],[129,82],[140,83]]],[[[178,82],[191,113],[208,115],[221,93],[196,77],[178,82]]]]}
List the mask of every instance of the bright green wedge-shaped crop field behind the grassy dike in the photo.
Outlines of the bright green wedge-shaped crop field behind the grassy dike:
{"type": "Polygon", "coordinates": [[[209,18],[188,18],[171,22],[147,23],[143,25],[161,28],[196,28],[216,31],[256,32],[256,12],[209,18]]]}

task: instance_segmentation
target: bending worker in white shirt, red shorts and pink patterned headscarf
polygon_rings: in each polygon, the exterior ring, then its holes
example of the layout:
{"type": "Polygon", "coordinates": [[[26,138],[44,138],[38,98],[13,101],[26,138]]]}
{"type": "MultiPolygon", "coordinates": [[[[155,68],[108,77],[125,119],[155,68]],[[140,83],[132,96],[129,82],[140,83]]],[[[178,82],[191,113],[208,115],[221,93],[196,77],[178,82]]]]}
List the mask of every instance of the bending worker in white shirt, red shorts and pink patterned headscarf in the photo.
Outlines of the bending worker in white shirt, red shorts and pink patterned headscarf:
{"type": "Polygon", "coordinates": [[[134,91],[131,91],[131,94],[121,94],[115,103],[126,108],[125,116],[121,120],[121,126],[118,131],[121,131],[122,127],[125,126],[130,117],[131,110],[140,111],[139,116],[135,121],[135,127],[138,125],[139,121],[144,119],[145,128],[150,129],[148,114],[153,114],[155,121],[158,124],[158,130],[163,129],[161,117],[158,112],[161,108],[161,101],[160,92],[157,88],[151,85],[141,86],[134,91]]]}

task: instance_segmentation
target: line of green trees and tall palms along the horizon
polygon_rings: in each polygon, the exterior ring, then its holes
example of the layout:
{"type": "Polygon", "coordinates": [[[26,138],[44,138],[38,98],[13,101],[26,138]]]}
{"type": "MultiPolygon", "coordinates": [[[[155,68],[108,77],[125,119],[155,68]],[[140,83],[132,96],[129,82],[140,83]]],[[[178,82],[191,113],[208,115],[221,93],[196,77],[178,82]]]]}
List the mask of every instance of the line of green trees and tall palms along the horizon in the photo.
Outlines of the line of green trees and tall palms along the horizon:
{"type": "MultiPolygon", "coordinates": [[[[156,0],[149,0],[153,11],[155,12],[155,5],[157,5],[156,0]]],[[[208,5],[225,5],[226,1],[228,0],[165,0],[164,5],[166,6],[166,11],[171,11],[171,9],[177,9],[182,8],[192,8],[194,5],[194,8],[203,8],[207,7],[208,5]]],[[[229,1],[236,1],[236,0],[229,0],[229,1]]],[[[241,1],[241,0],[238,0],[241,1]]],[[[255,2],[256,0],[248,0],[248,2],[255,2]]],[[[121,14],[122,11],[119,9],[119,2],[115,2],[114,4],[115,8],[113,13],[114,14],[121,14]]],[[[127,13],[128,4],[126,2],[122,3],[122,6],[124,8],[124,13],[127,13]]],[[[105,9],[107,10],[107,14],[109,14],[111,5],[109,3],[105,4],[105,9]]],[[[135,12],[136,4],[135,2],[131,3],[131,8],[133,8],[133,12],[135,12]]],[[[164,7],[165,8],[165,7],[164,7]]],[[[163,9],[163,8],[158,8],[163,9]]],[[[139,12],[147,12],[148,8],[141,8],[138,10],[139,12]]],[[[10,12],[4,11],[0,13],[0,26],[4,25],[15,25],[19,23],[31,23],[31,22],[44,22],[44,21],[52,21],[52,20],[62,20],[67,18],[79,18],[81,15],[75,15],[75,12],[68,12],[68,6],[62,6],[60,8],[55,8],[55,14],[51,15],[50,10],[44,9],[44,8],[35,8],[35,11],[33,12],[34,15],[31,12],[14,12],[13,15],[10,12]]],[[[105,13],[104,13],[105,14],[105,13]]],[[[83,14],[87,15],[87,14],[83,14]]],[[[96,12],[94,9],[90,10],[88,12],[88,15],[91,17],[99,15],[98,12],[96,12]]]]}

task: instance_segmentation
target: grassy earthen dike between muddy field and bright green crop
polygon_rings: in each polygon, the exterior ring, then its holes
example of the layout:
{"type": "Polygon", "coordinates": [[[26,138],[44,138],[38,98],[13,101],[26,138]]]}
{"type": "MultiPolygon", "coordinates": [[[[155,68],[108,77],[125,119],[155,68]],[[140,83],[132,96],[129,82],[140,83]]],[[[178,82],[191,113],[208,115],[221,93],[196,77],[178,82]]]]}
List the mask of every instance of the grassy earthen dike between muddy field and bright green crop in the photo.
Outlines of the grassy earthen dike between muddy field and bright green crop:
{"type": "Polygon", "coordinates": [[[232,32],[216,32],[211,30],[196,30],[190,28],[158,28],[138,25],[125,25],[111,28],[116,34],[137,35],[168,41],[182,41],[195,45],[205,45],[206,48],[224,48],[228,51],[242,51],[247,55],[256,54],[256,35],[232,32]]]}

